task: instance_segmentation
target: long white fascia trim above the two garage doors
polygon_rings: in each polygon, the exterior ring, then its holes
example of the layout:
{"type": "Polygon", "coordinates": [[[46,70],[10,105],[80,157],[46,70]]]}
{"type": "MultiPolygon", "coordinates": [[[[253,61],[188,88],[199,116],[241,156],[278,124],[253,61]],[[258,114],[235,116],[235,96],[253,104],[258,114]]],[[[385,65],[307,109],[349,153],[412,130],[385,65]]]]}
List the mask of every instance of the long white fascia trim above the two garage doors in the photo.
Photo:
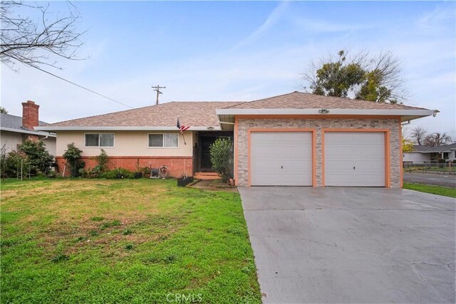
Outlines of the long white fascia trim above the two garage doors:
{"type": "Polygon", "coordinates": [[[434,110],[410,109],[333,109],[327,108],[327,114],[319,113],[321,109],[217,109],[217,115],[398,115],[398,116],[431,116],[434,110]]]}

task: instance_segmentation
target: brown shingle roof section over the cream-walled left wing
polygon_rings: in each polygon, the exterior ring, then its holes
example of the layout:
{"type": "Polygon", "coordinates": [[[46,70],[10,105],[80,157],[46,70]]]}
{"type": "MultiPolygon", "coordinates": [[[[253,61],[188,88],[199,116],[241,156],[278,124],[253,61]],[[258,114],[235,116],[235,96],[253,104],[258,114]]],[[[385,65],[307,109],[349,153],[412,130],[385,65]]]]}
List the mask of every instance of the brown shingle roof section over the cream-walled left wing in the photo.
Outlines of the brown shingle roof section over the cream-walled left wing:
{"type": "Polygon", "coordinates": [[[90,116],[53,123],[49,127],[149,127],[175,126],[177,117],[183,125],[217,127],[216,109],[239,102],[171,102],[144,108],[90,116]]]}

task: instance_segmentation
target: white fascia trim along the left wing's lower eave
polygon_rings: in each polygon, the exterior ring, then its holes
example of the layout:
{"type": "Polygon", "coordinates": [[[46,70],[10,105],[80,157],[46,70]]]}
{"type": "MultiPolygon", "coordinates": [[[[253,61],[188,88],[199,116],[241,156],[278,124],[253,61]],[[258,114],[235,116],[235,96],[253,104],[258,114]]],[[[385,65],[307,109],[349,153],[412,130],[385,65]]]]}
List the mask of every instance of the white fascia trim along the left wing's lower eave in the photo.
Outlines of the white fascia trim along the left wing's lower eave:
{"type": "MultiPolygon", "coordinates": [[[[38,129],[38,127],[36,127],[38,129]]],[[[49,131],[179,131],[177,127],[160,127],[160,126],[139,126],[139,127],[97,127],[97,126],[71,126],[71,127],[39,127],[38,130],[49,130],[49,131]]],[[[219,126],[207,126],[207,127],[190,127],[186,131],[220,131],[222,130],[219,126]],[[212,128],[212,129],[208,129],[212,128]]]]}

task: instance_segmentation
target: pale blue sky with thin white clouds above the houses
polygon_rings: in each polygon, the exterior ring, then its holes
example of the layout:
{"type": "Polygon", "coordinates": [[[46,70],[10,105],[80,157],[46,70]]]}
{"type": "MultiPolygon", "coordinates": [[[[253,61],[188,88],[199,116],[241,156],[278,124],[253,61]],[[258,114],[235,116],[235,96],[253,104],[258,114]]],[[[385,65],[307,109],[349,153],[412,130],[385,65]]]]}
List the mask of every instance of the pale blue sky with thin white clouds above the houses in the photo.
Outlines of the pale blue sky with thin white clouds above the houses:
{"type": "MultiPolygon", "coordinates": [[[[253,100],[301,90],[311,61],[348,48],[393,51],[409,105],[437,108],[417,120],[456,137],[455,2],[372,1],[77,1],[85,61],[51,70],[132,107],[151,105],[151,85],[172,100],[253,100]]],[[[51,2],[53,11],[66,4],[51,2]]],[[[127,108],[46,74],[1,66],[1,105],[41,105],[57,122],[127,108]]]]}

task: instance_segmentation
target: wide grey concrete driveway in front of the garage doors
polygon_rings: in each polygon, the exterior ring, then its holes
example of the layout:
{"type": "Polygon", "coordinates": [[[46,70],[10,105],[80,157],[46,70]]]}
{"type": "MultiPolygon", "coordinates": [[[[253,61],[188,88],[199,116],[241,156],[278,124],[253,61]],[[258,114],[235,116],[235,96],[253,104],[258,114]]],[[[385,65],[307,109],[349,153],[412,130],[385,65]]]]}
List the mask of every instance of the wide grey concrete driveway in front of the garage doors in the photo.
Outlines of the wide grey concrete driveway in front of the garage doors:
{"type": "Polygon", "coordinates": [[[264,303],[455,303],[455,199],[239,188],[264,303]]]}

